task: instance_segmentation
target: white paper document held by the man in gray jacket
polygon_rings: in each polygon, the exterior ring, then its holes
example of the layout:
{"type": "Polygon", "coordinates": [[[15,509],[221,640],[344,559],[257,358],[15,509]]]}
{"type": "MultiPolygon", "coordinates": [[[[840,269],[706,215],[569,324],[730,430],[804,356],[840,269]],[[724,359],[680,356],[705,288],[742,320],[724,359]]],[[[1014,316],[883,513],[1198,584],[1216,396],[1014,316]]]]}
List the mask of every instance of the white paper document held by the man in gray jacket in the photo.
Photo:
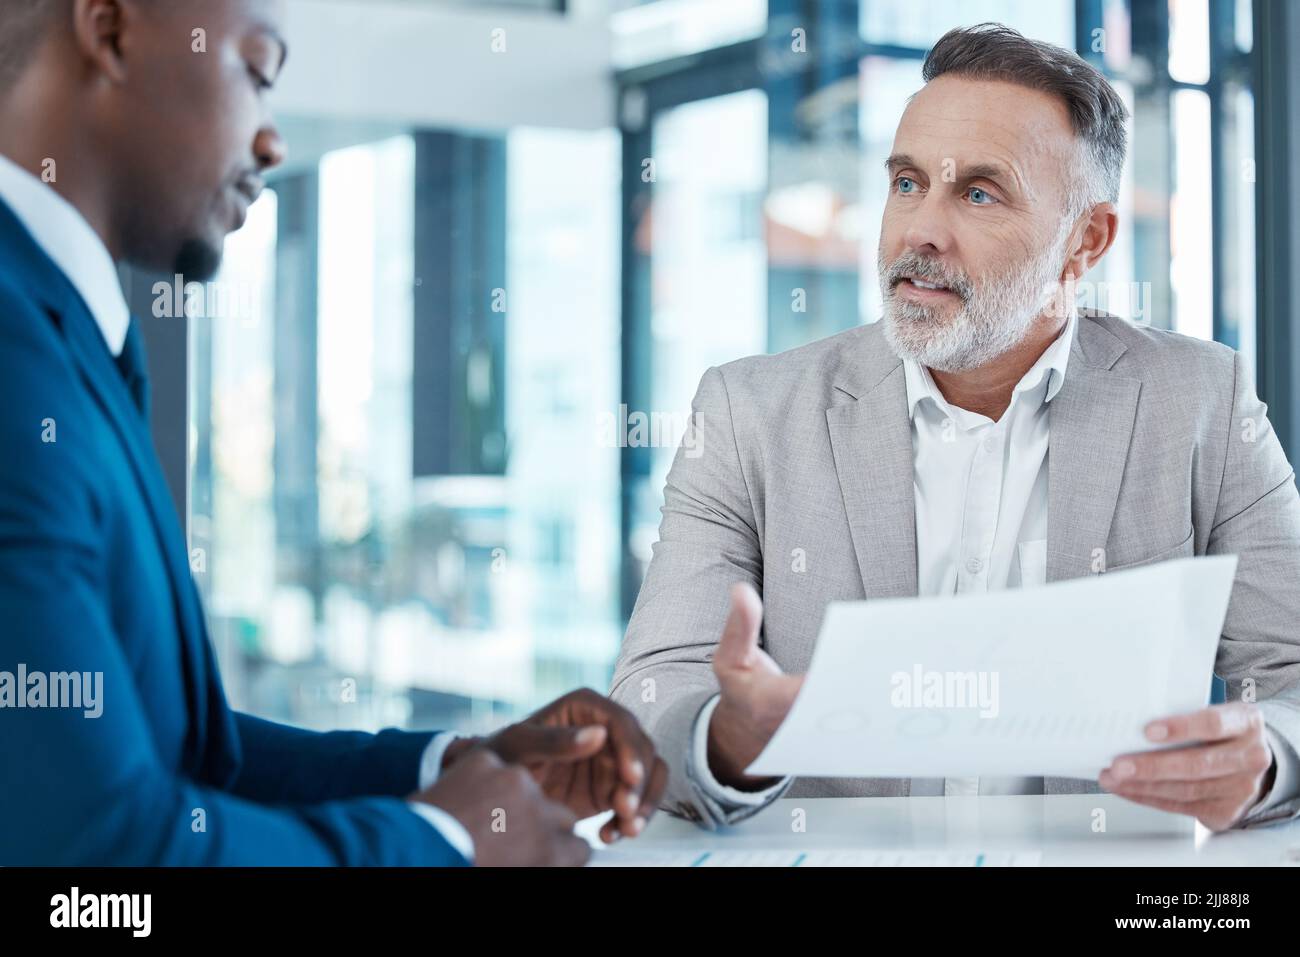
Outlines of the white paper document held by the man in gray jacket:
{"type": "Polygon", "coordinates": [[[1209,702],[1235,555],[828,606],[753,775],[1096,778],[1209,702]]]}

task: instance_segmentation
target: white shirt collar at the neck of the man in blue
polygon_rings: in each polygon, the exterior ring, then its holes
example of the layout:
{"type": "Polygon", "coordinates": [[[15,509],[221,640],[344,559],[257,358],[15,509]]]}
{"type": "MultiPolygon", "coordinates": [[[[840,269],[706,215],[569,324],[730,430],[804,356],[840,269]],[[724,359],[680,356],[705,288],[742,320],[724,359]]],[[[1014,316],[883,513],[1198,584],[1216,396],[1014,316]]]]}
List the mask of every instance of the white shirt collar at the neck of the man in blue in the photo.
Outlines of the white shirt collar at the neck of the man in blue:
{"type": "Polygon", "coordinates": [[[0,155],[0,200],[81,293],[108,351],[120,355],[131,311],[104,241],[77,207],[4,155],[0,155]]]}

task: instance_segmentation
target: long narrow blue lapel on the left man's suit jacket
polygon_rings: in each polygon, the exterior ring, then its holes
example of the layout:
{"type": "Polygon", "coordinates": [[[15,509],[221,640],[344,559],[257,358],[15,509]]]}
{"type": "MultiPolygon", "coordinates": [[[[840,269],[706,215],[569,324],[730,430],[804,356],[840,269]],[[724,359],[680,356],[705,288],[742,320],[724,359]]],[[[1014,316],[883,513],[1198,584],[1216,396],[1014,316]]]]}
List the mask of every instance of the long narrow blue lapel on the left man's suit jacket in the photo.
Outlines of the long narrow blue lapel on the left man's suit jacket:
{"type": "Polygon", "coordinates": [[[217,677],[203,609],[190,573],[188,549],[153,452],[148,425],[81,295],[36,246],[22,224],[0,203],[0,254],[12,257],[26,286],[43,302],[64,333],[82,380],[104,410],[143,492],[157,547],[170,580],[170,598],[182,641],[190,727],[185,771],[213,784],[228,784],[239,763],[238,733],[217,677]]]}

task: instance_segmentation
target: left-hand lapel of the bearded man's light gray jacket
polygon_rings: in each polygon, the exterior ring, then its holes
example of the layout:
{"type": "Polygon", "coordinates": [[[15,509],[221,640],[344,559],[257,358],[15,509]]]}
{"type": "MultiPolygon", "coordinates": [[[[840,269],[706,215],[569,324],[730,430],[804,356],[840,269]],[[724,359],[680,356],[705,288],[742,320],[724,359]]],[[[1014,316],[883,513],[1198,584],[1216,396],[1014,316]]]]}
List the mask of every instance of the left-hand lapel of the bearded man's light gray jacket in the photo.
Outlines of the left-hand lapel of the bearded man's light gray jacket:
{"type": "Polygon", "coordinates": [[[863,361],[836,382],[849,400],[826,412],[831,451],[866,597],[915,596],[911,420],[902,363],[883,341],[863,351],[863,361]]]}

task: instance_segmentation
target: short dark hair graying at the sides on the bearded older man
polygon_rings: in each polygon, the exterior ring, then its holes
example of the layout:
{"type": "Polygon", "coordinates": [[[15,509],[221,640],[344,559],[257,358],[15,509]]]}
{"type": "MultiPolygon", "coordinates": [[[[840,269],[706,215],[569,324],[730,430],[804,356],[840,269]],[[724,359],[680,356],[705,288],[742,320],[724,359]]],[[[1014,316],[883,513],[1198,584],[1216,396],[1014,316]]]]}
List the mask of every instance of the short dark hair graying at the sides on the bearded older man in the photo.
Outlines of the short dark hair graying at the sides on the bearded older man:
{"type": "Polygon", "coordinates": [[[926,56],[928,83],[944,74],[997,79],[1058,96],[1083,144],[1079,182],[1071,190],[1074,213],[1119,199],[1128,109],[1101,72],[1071,49],[1031,40],[1001,23],[978,23],[944,34],[926,56]]]}

